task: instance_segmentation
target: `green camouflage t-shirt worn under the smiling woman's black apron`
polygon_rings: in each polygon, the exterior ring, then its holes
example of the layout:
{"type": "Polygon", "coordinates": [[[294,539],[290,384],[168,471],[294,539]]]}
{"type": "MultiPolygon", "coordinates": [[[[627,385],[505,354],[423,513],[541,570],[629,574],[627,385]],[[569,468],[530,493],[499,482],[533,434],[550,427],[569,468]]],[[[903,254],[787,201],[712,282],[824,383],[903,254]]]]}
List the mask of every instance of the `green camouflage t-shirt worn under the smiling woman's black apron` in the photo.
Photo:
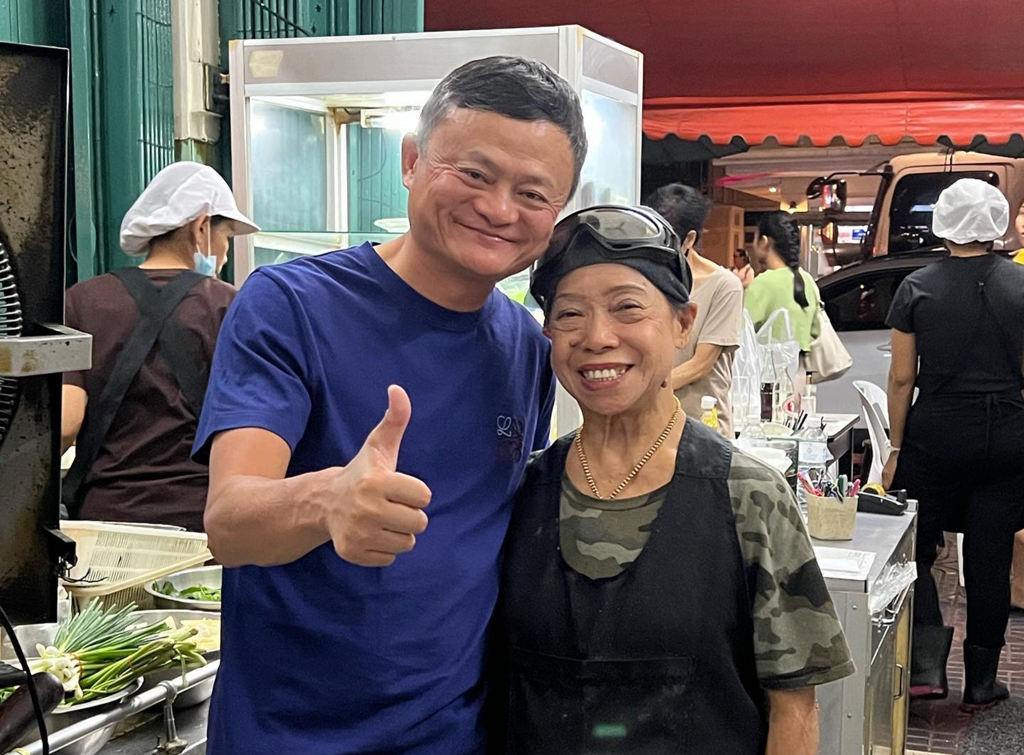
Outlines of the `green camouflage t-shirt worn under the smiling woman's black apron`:
{"type": "MultiPolygon", "coordinates": [[[[622,573],[643,550],[668,490],[599,500],[563,477],[559,538],[565,563],[591,579],[622,573]]],[[[785,480],[736,450],[729,496],[744,566],[757,575],[751,614],[761,685],[796,690],[852,674],[842,625],[785,480]]]]}

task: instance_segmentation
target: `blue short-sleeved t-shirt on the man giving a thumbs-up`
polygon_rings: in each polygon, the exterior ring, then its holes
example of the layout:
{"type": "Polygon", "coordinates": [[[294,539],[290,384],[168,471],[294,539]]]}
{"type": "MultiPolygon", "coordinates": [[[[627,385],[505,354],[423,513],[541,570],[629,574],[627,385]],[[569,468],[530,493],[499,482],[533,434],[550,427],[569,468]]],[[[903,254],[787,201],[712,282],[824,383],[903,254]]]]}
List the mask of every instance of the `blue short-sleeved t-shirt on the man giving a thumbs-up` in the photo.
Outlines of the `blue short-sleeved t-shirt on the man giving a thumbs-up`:
{"type": "Polygon", "coordinates": [[[529,313],[417,294],[370,245],[263,267],[220,330],[196,440],[263,428],[288,475],[346,464],[406,389],[398,472],[430,524],[385,568],[331,543],[286,566],[225,569],[211,755],[482,751],[481,673],[511,497],[546,445],[554,379],[529,313]]]}

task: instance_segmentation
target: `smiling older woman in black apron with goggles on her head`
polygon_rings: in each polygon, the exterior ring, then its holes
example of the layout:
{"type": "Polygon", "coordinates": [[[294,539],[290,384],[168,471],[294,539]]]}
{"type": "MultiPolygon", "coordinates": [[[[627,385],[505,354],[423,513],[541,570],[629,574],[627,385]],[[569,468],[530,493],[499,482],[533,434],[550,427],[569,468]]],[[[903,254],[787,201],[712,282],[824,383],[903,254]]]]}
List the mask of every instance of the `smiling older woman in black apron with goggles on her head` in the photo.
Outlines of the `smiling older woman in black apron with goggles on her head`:
{"type": "Polygon", "coordinates": [[[535,459],[506,541],[510,755],[811,755],[812,687],[853,671],[785,482],[673,395],[689,287],[646,208],[569,216],[535,271],[584,424],[535,459]]]}

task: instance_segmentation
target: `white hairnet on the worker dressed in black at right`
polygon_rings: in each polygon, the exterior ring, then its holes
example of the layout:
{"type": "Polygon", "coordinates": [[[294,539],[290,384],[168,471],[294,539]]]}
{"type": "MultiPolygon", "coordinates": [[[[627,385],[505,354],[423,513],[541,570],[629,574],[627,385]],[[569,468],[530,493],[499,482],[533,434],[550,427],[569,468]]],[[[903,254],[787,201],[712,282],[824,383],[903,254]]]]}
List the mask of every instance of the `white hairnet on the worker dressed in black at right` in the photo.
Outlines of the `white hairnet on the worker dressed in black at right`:
{"type": "Polygon", "coordinates": [[[962,178],[939,194],[932,215],[932,231],[953,243],[994,241],[1009,225],[1007,197],[977,178],[962,178]]]}

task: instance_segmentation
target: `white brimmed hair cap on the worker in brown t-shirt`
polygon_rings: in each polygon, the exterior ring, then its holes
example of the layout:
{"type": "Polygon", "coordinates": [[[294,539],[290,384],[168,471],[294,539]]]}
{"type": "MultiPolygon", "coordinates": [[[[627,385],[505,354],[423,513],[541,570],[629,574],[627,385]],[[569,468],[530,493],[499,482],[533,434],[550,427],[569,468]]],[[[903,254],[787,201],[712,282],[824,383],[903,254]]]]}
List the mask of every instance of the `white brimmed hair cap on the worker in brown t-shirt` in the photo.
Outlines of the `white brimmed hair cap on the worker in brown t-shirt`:
{"type": "Polygon", "coordinates": [[[239,212],[223,178],[202,163],[172,163],[154,176],[121,221],[121,249],[144,253],[150,240],[177,230],[201,215],[232,221],[234,233],[255,233],[259,227],[239,212]]]}

